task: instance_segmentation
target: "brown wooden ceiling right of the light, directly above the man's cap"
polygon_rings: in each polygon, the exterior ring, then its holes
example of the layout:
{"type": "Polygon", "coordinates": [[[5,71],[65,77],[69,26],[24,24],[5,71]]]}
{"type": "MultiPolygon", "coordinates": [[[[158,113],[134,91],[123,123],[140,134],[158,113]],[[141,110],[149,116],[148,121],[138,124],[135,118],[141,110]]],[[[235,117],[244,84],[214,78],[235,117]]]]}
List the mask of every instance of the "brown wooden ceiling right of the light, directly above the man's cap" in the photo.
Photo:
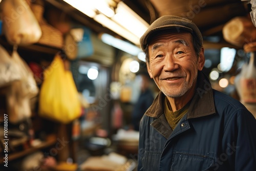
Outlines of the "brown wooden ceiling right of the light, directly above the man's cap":
{"type": "Polygon", "coordinates": [[[248,5],[241,0],[129,0],[124,1],[148,23],[163,15],[178,15],[192,20],[203,35],[215,35],[236,16],[248,14],[248,5]],[[136,6],[138,9],[136,9],[136,6]]]}

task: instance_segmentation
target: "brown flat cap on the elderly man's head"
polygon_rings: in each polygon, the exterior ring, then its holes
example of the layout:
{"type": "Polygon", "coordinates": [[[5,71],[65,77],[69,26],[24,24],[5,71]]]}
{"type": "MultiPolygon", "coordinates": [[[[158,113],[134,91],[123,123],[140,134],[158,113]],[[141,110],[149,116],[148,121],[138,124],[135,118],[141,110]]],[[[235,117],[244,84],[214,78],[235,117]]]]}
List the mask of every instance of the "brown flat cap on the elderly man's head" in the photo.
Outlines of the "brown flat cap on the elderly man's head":
{"type": "Polygon", "coordinates": [[[155,33],[162,31],[162,30],[176,30],[180,32],[180,30],[184,30],[190,33],[193,33],[198,40],[200,41],[201,45],[203,44],[203,37],[195,25],[195,23],[191,22],[183,17],[175,16],[175,15],[164,15],[160,18],[156,19],[150,27],[146,30],[146,32],[140,37],[140,47],[144,51],[148,44],[148,38],[150,38],[155,33]]]}

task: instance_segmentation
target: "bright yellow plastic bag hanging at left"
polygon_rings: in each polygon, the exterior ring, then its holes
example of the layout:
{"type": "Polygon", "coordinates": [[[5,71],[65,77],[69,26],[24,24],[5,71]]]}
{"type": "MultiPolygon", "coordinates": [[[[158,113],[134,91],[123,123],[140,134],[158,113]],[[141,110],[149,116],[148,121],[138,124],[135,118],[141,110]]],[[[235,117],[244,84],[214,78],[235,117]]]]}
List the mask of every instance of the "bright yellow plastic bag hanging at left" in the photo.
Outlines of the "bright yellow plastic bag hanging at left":
{"type": "Polygon", "coordinates": [[[39,116],[69,123],[81,114],[78,91],[70,71],[66,71],[59,55],[44,71],[39,93],[39,116]]]}

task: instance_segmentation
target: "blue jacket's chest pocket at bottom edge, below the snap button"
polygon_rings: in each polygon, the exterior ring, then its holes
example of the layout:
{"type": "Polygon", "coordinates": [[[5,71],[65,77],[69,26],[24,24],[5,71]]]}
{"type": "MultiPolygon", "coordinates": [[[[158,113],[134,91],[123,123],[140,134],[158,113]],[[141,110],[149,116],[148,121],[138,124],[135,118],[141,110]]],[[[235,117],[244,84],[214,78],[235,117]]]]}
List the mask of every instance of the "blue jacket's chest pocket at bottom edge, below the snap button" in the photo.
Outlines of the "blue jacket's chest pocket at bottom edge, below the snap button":
{"type": "Polygon", "coordinates": [[[176,152],[170,170],[207,170],[212,164],[214,164],[213,157],[176,152]]]}

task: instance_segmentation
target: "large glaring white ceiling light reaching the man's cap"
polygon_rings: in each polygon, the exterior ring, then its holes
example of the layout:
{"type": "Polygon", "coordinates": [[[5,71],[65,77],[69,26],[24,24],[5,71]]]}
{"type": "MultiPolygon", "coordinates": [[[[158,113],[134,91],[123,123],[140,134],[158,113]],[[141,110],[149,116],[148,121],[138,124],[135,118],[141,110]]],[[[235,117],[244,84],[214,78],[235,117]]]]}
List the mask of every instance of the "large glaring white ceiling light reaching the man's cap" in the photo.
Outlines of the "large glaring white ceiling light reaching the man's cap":
{"type": "Polygon", "coordinates": [[[113,5],[113,3],[110,3],[109,1],[107,2],[107,0],[63,1],[93,18],[104,27],[131,41],[135,45],[140,45],[140,37],[150,26],[123,2],[113,5]],[[116,7],[115,10],[114,7],[116,7]]]}

